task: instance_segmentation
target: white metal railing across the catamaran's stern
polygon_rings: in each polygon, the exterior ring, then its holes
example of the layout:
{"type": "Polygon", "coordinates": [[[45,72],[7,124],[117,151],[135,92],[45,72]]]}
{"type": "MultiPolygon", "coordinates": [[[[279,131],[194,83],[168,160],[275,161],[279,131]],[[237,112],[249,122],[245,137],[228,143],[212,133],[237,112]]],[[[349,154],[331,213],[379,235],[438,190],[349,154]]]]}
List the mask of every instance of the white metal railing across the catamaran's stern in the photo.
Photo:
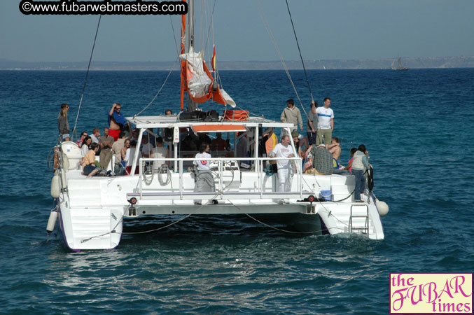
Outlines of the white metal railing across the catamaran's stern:
{"type": "MultiPolygon", "coordinates": [[[[185,172],[183,171],[183,163],[186,162],[194,162],[197,160],[206,160],[209,161],[211,164],[212,162],[216,161],[217,162],[217,169],[213,168],[212,170],[215,172],[217,171],[217,178],[218,178],[218,183],[216,185],[216,192],[215,193],[208,193],[208,194],[215,194],[215,195],[220,195],[223,199],[225,199],[225,194],[232,193],[235,195],[235,192],[230,192],[227,191],[225,192],[224,190],[226,189],[224,187],[223,183],[223,172],[225,171],[225,167],[229,167],[232,165],[232,162],[241,162],[241,161],[253,161],[254,169],[249,170],[250,172],[255,172],[257,175],[258,179],[258,185],[256,187],[253,187],[253,193],[251,195],[258,195],[260,196],[260,199],[263,199],[264,197],[268,197],[269,194],[271,195],[281,195],[281,197],[284,197],[284,195],[291,195],[293,197],[302,197],[303,191],[302,191],[302,159],[299,157],[294,157],[294,158],[140,158],[139,159],[139,197],[143,197],[144,195],[144,187],[143,183],[146,181],[145,176],[146,176],[146,169],[144,168],[144,165],[146,162],[148,163],[153,163],[155,161],[159,162],[160,165],[165,164],[166,162],[176,162],[178,165],[178,170],[179,170],[179,197],[180,199],[183,199],[183,195],[202,195],[203,193],[190,193],[190,192],[185,192],[183,189],[183,175],[185,172]],[[264,171],[264,163],[265,162],[270,162],[270,161],[278,161],[278,160],[291,160],[294,161],[292,162],[291,168],[295,169],[295,172],[293,173],[293,176],[296,176],[296,181],[297,181],[297,187],[295,190],[291,192],[277,192],[273,191],[272,193],[269,193],[265,191],[265,181],[263,181],[263,178],[266,175],[264,171]],[[161,162],[161,163],[160,163],[161,162]]],[[[175,164],[175,165],[176,165],[175,164]]],[[[240,168],[238,168],[240,172],[240,168]]],[[[277,184],[277,187],[279,185],[277,184]]],[[[277,188],[275,187],[275,188],[277,188]]],[[[172,190],[172,193],[178,193],[176,189],[172,190]]]]}

